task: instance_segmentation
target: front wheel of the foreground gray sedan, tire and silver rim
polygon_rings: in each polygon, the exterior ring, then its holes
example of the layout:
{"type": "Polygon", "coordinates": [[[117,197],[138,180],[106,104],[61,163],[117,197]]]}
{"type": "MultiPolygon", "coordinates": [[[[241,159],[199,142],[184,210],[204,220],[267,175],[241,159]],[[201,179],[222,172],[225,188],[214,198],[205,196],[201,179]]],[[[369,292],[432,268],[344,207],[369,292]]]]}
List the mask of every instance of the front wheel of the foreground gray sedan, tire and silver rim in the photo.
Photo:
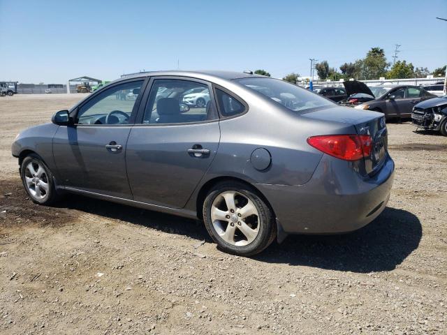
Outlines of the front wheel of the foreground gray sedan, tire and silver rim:
{"type": "Polygon", "coordinates": [[[29,154],[24,158],[20,165],[20,177],[29,198],[36,204],[49,205],[58,200],[53,174],[38,155],[29,154]]]}

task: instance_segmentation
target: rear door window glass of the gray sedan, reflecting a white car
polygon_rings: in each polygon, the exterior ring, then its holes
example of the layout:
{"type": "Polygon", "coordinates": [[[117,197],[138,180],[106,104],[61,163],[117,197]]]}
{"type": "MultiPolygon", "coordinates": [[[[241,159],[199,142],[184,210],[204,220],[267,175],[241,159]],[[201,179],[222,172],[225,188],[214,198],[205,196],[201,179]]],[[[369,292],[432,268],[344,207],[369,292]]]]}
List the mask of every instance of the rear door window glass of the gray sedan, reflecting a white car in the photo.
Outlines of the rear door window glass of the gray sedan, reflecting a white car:
{"type": "Polygon", "coordinates": [[[207,84],[154,80],[143,124],[184,124],[216,119],[207,84]]]}

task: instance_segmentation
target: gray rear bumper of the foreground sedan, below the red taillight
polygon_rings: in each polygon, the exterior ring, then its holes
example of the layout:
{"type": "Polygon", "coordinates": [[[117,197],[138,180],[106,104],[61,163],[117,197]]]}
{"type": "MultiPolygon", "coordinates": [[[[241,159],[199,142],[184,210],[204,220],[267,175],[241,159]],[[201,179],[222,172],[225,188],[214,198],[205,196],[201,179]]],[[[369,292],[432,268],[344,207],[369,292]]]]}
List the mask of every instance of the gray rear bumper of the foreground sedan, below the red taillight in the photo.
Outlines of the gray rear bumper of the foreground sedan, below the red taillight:
{"type": "Polygon", "coordinates": [[[367,225],[385,209],[394,177],[387,154],[383,167],[362,177],[352,163],[323,156],[312,179],[304,185],[256,187],[273,207],[279,231],[286,234],[339,234],[367,225]]]}

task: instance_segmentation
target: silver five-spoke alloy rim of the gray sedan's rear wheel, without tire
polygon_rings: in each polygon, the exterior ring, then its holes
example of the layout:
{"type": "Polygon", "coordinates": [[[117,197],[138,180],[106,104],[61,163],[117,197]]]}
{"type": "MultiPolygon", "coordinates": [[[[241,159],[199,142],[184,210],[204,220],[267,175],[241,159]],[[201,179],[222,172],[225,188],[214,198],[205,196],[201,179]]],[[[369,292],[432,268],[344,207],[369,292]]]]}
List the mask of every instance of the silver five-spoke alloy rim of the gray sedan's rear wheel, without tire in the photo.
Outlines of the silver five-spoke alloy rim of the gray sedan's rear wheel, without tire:
{"type": "Polygon", "coordinates": [[[247,246],[259,233],[259,213],[254,202],[237,191],[217,195],[211,206],[214,230],[233,246],[247,246]]]}

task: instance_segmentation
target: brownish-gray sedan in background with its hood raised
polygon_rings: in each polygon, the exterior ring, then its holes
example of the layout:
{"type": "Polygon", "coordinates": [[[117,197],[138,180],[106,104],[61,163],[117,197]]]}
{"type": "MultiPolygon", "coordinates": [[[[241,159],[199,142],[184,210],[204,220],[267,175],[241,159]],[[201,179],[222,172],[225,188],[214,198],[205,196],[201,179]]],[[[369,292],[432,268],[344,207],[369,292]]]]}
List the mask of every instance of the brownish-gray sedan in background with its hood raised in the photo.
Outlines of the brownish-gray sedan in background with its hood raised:
{"type": "MultiPolygon", "coordinates": [[[[346,82],[348,83],[348,82],[346,82]]],[[[362,82],[357,82],[357,87],[361,87],[362,93],[374,96],[371,89],[362,82]],[[369,93],[368,93],[369,91],[369,93]]],[[[345,86],[346,87],[346,86],[345,86]]],[[[436,97],[422,87],[412,85],[398,85],[394,87],[383,88],[380,96],[374,96],[374,99],[356,105],[354,108],[359,110],[374,110],[382,112],[387,119],[397,118],[404,119],[411,117],[411,111],[414,105],[430,98],[436,97]]],[[[346,92],[354,93],[346,88],[346,92]]]]}

